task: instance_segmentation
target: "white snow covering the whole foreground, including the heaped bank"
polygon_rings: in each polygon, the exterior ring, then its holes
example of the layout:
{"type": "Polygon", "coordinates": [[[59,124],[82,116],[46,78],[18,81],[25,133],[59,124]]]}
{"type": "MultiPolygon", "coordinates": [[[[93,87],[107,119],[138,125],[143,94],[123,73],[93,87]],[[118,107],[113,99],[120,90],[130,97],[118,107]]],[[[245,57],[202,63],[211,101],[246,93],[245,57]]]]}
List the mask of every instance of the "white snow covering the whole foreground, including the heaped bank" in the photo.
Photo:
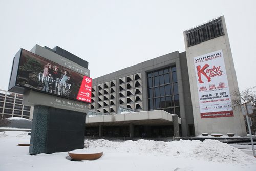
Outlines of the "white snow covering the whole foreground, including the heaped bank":
{"type": "Polygon", "coordinates": [[[70,161],[68,152],[29,155],[28,132],[0,132],[0,170],[256,170],[256,158],[216,140],[86,140],[86,148],[103,151],[94,161],[70,161]]]}

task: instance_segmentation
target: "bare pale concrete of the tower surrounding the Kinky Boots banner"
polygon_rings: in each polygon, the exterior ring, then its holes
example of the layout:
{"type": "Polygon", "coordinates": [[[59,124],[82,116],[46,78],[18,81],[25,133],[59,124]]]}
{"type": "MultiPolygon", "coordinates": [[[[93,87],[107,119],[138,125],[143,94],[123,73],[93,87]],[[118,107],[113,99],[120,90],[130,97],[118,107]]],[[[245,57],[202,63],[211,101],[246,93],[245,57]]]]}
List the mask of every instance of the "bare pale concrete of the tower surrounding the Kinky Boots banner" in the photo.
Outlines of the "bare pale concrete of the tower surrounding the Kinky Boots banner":
{"type": "MultiPolygon", "coordinates": [[[[236,71],[234,70],[231,48],[229,44],[227,28],[225,19],[222,16],[222,23],[225,35],[210,39],[200,44],[187,47],[186,34],[184,32],[184,41],[186,47],[187,66],[189,74],[189,84],[191,91],[191,99],[193,105],[194,123],[196,135],[204,132],[207,133],[235,133],[239,136],[246,136],[244,119],[239,111],[233,111],[233,117],[220,117],[220,118],[201,118],[197,88],[197,78],[193,58],[217,50],[223,51],[226,74],[228,78],[228,85],[230,94],[238,90],[238,82],[236,71]]],[[[231,99],[234,97],[231,95],[231,99]]]]}

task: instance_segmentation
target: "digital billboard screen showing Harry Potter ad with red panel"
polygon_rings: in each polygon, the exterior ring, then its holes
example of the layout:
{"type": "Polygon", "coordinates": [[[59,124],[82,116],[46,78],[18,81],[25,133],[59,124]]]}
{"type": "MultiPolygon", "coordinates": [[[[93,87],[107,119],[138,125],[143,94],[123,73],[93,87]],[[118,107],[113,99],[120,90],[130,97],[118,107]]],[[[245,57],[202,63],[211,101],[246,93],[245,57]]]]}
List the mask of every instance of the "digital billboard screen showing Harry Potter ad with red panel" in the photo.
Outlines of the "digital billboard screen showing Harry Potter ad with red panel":
{"type": "Polygon", "coordinates": [[[18,57],[15,86],[91,103],[91,78],[24,49],[18,57]]]}

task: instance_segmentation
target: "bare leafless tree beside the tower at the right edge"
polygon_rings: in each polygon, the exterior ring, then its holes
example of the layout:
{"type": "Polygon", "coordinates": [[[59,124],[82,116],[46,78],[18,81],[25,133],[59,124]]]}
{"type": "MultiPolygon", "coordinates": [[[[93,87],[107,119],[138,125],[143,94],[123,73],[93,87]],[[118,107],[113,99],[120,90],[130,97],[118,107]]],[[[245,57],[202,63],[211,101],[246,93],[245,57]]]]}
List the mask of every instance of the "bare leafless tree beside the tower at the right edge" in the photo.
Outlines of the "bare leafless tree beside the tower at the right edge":
{"type": "MultiPolygon", "coordinates": [[[[256,133],[256,86],[252,88],[246,88],[244,91],[239,92],[239,90],[232,92],[232,95],[234,99],[231,99],[233,109],[236,110],[238,106],[243,105],[244,103],[251,102],[251,105],[253,106],[253,112],[254,114],[251,114],[251,130],[252,133],[256,133]]],[[[241,108],[240,108],[241,109],[241,108]]],[[[245,118],[245,124],[247,128],[247,121],[245,118]]]]}

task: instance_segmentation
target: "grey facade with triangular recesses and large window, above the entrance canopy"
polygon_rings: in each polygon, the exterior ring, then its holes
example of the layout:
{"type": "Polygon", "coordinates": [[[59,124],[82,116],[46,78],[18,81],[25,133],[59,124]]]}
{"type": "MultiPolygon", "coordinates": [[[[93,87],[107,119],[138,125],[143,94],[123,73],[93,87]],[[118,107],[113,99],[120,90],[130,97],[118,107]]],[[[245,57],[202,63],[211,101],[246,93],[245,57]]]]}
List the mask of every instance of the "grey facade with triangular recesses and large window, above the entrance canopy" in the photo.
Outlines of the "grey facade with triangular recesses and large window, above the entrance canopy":
{"type": "Polygon", "coordinates": [[[176,51],[93,79],[89,109],[106,114],[116,114],[119,106],[135,111],[164,109],[181,118],[181,133],[188,136],[188,125],[193,126],[191,99],[184,97],[190,94],[188,82],[185,53],[176,51]],[[155,97],[150,102],[149,92],[155,97]]]}

